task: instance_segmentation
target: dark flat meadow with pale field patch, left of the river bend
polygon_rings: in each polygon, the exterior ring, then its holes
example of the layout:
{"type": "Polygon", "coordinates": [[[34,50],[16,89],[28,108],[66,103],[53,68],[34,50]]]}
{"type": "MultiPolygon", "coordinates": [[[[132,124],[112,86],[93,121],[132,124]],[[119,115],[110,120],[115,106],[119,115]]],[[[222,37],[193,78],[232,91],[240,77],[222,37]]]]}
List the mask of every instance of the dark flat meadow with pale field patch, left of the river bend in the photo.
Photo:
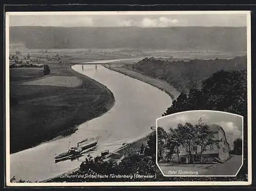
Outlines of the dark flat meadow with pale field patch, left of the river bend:
{"type": "Polygon", "coordinates": [[[77,125],[103,115],[114,105],[108,88],[72,70],[70,62],[48,65],[48,78],[38,69],[10,69],[11,154],[71,135],[77,125]]]}

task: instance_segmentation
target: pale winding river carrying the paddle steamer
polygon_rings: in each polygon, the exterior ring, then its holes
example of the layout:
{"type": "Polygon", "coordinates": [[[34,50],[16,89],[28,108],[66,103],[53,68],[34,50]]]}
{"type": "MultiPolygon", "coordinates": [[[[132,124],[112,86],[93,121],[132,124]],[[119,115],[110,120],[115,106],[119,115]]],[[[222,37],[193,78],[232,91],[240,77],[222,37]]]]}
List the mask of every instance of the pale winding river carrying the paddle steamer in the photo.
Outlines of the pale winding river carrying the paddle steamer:
{"type": "MultiPolygon", "coordinates": [[[[111,60],[98,61],[104,62],[111,60]]],[[[108,87],[115,97],[114,106],[104,115],[80,124],[71,136],[12,154],[10,177],[41,181],[68,172],[78,167],[87,156],[55,163],[55,154],[65,152],[69,142],[73,146],[86,138],[98,138],[98,146],[92,156],[99,155],[105,149],[114,151],[123,142],[133,142],[150,133],[156,118],[161,117],[170,106],[171,99],[165,92],[101,65],[75,65],[72,69],[108,87]]]]}

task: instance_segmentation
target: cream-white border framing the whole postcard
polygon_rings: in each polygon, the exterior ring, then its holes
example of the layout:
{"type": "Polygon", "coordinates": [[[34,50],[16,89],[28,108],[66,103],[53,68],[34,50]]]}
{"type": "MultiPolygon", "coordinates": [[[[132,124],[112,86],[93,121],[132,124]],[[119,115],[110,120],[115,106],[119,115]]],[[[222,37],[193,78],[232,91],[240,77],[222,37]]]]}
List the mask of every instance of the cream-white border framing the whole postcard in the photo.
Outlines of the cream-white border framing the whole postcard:
{"type": "Polygon", "coordinates": [[[250,11],[65,11],[6,12],[6,185],[7,186],[172,186],[172,185],[250,185],[251,169],[251,18],[250,11]],[[164,14],[246,14],[247,15],[247,118],[248,181],[178,181],[178,182],[84,182],[84,183],[13,183],[10,182],[10,103],[9,103],[9,16],[10,15],[164,15],[164,14]]]}

